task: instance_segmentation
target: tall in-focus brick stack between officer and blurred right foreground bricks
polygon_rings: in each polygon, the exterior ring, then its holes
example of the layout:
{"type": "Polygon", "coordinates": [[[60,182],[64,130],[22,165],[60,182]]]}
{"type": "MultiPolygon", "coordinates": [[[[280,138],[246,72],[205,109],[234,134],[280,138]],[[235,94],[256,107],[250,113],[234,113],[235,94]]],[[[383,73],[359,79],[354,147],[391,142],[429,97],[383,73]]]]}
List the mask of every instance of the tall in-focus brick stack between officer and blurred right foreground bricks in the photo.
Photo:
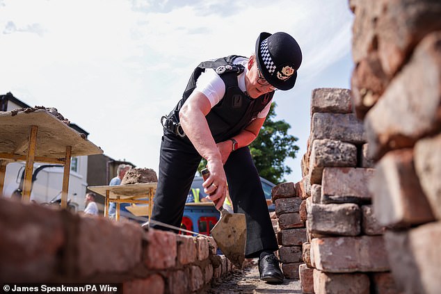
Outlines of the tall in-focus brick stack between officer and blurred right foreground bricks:
{"type": "Polygon", "coordinates": [[[303,293],[394,293],[384,229],[372,213],[374,169],[366,150],[351,91],[315,89],[303,179],[296,185],[307,211],[303,293]]]}

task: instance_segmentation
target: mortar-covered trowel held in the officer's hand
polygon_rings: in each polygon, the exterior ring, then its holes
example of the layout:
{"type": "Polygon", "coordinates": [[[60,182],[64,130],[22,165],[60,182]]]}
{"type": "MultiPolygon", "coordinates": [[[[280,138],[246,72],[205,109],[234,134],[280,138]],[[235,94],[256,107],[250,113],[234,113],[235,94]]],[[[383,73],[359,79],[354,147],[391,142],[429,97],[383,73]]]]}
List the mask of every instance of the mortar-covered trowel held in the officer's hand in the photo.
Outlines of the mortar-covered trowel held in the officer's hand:
{"type": "MultiPolygon", "coordinates": [[[[202,178],[209,177],[209,170],[201,171],[202,178]]],[[[216,203],[214,204],[216,206],[216,203]]],[[[236,268],[242,268],[245,260],[246,222],[243,213],[229,213],[220,206],[220,219],[211,229],[216,244],[236,268]]]]}

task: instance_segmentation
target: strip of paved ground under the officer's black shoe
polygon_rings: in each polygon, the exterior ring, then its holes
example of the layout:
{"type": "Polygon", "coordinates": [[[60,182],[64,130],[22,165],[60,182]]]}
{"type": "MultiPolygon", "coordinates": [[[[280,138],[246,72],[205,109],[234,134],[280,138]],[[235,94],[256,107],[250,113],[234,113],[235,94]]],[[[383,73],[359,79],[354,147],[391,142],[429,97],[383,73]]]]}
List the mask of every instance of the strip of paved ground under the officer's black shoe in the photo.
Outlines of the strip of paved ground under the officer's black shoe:
{"type": "Polygon", "coordinates": [[[302,293],[300,290],[300,281],[294,279],[285,279],[283,284],[273,285],[259,279],[259,269],[257,268],[257,259],[244,270],[234,270],[219,280],[207,292],[209,294],[224,293],[302,293]]]}

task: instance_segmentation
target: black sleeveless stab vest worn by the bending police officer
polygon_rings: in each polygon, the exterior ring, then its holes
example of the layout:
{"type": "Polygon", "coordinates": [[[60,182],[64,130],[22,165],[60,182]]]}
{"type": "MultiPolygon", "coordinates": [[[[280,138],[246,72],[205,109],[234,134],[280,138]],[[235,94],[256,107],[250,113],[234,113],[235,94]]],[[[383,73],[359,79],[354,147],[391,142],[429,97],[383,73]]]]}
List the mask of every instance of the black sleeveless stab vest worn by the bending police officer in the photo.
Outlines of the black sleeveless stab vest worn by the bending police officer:
{"type": "Polygon", "coordinates": [[[179,123],[179,110],[193,90],[195,90],[196,81],[200,74],[205,72],[205,69],[212,68],[225,83],[225,95],[218,104],[211,108],[211,111],[206,116],[211,135],[217,143],[228,140],[245,129],[271,101],[274,92],[266,93],[256,99],[252,99],[243,92],[239,88],[237,76],[244,69],[243,65],[234,65],[232,63],[236,57],[242,56],[232,55],[200,63],[193,71],[182,99],[168,115],[168,118],[173,120],[173,122],[179,123]]]}

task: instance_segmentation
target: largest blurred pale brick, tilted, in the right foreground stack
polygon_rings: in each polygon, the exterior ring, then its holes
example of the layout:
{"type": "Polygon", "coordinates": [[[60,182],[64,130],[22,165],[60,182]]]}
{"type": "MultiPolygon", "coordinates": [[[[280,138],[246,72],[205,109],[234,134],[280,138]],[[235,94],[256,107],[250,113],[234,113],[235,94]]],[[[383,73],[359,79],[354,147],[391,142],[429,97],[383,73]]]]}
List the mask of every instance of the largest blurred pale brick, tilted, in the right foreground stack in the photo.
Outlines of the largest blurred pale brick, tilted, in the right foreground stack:
{"type": "Polygon", "coordinates": [[[440,131],[440,42],[441,33],[426,36],[367,113],[364,127],[370,158],[378,160],[391,149],[412,147],[419,138],[440,131]]]}

